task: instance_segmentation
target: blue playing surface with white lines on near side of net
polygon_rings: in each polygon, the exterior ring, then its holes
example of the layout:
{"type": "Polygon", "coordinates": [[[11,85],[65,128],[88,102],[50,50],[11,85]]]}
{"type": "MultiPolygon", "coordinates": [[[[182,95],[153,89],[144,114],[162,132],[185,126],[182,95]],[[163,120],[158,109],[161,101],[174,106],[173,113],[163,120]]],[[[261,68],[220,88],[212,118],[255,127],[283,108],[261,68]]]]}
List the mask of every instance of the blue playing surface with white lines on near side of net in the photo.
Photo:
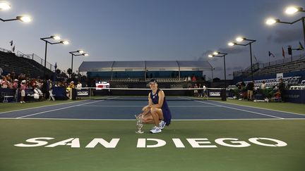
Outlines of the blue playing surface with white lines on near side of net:
{"type": "MultiPolygon", "coordinates": [[[[135,120],[147,101],[86,100],[0,113],[0,118],[135,120]]],[[[285,120],[305,115],[220,101],[168,101],[173,120],[285,120]]]]}

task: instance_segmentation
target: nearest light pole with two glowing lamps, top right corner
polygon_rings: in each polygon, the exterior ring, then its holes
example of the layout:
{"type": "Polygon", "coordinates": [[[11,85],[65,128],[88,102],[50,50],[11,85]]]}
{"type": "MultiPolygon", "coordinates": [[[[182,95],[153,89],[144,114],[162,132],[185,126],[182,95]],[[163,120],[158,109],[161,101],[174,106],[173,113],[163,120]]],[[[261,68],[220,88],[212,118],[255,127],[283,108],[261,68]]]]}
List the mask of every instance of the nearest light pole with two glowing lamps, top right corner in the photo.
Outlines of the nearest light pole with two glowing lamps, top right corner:
{"type": "MultiPolygon", "coordinates": [[[[294,13],[297,12],[305,12],[303,8],[301,7],[295,7],[295,6],[289,6],[286,8],[285,13],[287,13],[288,15],[293,15],[294,13]]],[[[285,21],[281,21],[280,19],[275,19],[275,18],[268,18],[265,23],[267,25],[274,25],[275,23],[283,23],[283,24],[289,24],[289,25],[293,25],[294,23],[297,23],[299,21],[302,21],[302,25],[303,25],[303,37],[304,37],[304,44],[305,44],[305,17],[301,17],[297,20],[294,20],[292,22],[285,22],[285,21]]]]}

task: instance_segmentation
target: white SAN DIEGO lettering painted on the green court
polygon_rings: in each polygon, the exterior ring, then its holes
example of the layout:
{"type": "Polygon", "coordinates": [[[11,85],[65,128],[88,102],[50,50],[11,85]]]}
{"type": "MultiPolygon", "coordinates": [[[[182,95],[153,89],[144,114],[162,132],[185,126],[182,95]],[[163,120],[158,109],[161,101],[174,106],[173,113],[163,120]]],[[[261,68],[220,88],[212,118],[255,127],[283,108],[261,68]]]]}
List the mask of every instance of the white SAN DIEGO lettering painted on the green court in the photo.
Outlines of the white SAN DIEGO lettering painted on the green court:
{"type": "MultiPolygon", "coordinates": [[[[103,146],[104,148],[116,148],[120,139],[115,138],[107,141],[102,138],[92,139],[88,144],[81,144],[79,138],[69,138],[56,143],[50,144],[48,140],[55,139],[53,137],[36,137],[25,140],[25,143],[14,144],[18,147],[56,147],[56,146],[69,146],[71,148],[95,148],[96,146],[103,146]]],[[[159,148],[162,146],[174,146],[176,148],[217,148],[219,146],[226,146],[230,148],[249,147],[256,146],[268,146],[268,147],[283,147],[287,146],[285,141],[272,138],[254,137],[247,140],[239,140],[237,138],[219,138],[215,140],[209,140],[207,138],[196,139],[178,139],[173,138],[171,141],[165,141],[163,139],[138,139],[136,148],[159,148]]]]}

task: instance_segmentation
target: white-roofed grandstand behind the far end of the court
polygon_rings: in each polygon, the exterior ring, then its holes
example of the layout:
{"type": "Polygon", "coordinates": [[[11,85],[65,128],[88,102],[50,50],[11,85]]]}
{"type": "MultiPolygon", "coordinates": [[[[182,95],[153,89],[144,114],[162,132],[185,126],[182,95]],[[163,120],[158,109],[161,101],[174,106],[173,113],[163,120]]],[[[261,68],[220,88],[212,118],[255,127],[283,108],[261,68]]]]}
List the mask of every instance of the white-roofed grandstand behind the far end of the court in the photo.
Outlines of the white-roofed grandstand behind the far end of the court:
{"type": "Polygon", "coordinates": [[[203,71],[211,68],[208,61],[84,61],[78,70],[87,72],[91,86],[99,80],[110,82],[111,87],[143,87],[153,77],[170,88],[193,87],[185,84],[191,76],[204,82],[203,71]]]}

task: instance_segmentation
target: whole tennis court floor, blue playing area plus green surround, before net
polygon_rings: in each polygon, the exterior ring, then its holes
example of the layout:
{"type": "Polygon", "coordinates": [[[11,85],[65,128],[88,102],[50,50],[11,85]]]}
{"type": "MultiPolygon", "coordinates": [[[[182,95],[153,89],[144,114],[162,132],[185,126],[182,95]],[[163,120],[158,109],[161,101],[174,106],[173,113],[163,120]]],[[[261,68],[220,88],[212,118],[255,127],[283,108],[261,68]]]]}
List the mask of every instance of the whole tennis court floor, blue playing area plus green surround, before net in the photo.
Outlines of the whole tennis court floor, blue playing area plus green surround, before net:
{"type": "Polygon", "coordinates": [[[136,134],[134,115],[148,102],[119,98],[0,113],[0,170],[305,168],[305,115],[221,101],[184,99],[168,101],[173,121],[162,133],[150,134],[152,125],[145,125],[145,133],[136,134]],[[46,137],[49,139],[43,139],[46,137]],[[14,146],[37,144],[27,141],[34,138],[42,138],[39,140],[45,144],[14,146]],[[253,138],[270,146],[253,143],[250,140],[253,138]],[[88,148],[94,139],[104,139],[109,144],[116,139],[116,144],[113,148],[105,144],[88,148]],[[223,142],[232,146],[220,144],[217,139],[226,139],[223,142]],[[277,146],[270,139],[287,145],[277,146]],[[140,141],[145,142],[144,147],[139,146],[140,141]],[[191,141],[196,141],[198,146],[191,141]],[[237,146],[243,142],[247,145],[237,146]],[[47,147],[52,144],[55,145],[47,147]]]}

